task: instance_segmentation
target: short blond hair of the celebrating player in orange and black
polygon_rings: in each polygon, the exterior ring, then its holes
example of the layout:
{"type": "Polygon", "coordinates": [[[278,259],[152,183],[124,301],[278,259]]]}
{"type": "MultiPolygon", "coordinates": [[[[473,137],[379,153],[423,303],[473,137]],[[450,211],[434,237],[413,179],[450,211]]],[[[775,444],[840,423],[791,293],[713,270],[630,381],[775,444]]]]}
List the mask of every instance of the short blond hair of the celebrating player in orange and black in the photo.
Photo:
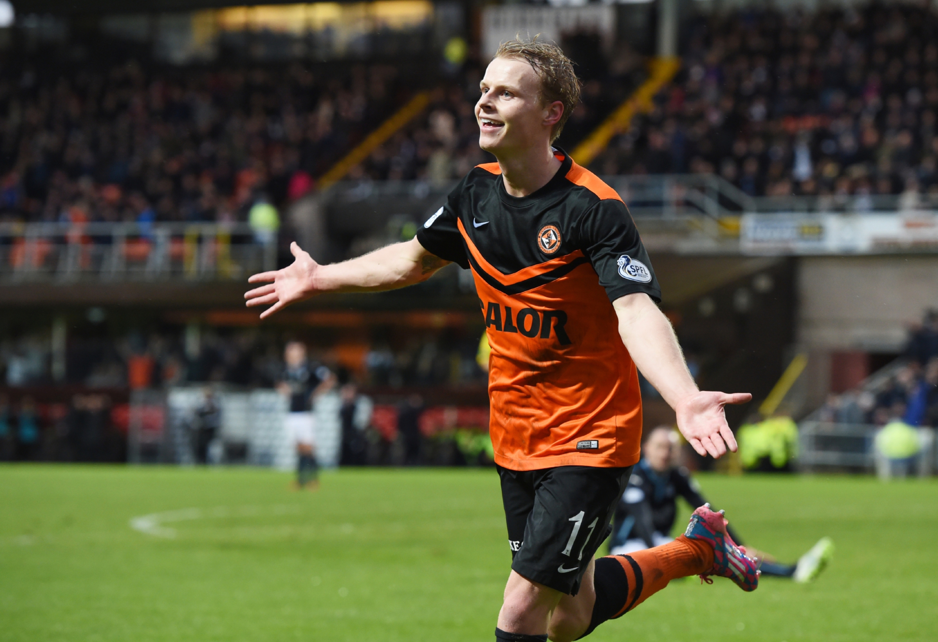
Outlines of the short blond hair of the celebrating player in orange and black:
{"type": "Polygon", "coordinates": [[[567,119],[580,102],[580,79],[573,70],[573,61],[557,45],[542,42],[537,36],[530,40],[517,37],[503,42],[495,58],[522,58],[534,68],[540,78],[540,98],[544,104],[559,100],[564,105],[564,113],[551,130],[551,142],[557,140],[564,130],[567,119]]]}

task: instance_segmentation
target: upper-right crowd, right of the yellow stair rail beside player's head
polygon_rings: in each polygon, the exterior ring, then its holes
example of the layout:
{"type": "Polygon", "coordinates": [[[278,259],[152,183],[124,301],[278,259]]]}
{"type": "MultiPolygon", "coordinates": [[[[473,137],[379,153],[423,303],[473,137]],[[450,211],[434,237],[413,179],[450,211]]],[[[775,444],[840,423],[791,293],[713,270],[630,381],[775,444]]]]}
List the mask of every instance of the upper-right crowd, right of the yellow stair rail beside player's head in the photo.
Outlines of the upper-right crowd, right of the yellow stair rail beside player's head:
{"type": "Polygon", "coordinates": [[[936,35],[938,14],[913,3],[700,15],[674,82],[593,169],[719,173],[752,196],[860,209],[938,199],[936,35]]]}

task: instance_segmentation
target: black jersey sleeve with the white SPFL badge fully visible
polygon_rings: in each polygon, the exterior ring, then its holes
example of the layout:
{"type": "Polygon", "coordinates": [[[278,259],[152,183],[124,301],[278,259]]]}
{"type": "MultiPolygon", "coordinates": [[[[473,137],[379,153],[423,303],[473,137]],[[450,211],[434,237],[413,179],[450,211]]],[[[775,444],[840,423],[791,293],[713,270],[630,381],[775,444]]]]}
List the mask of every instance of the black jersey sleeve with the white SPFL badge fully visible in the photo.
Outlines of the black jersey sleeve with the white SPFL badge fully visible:
{"type": "Polygon", "coordinates": [[[590,208],[580,224],[580,246],[610,301],[635,292],[661,301],[658,279],[624,202],[604,199],[590,208]]]}

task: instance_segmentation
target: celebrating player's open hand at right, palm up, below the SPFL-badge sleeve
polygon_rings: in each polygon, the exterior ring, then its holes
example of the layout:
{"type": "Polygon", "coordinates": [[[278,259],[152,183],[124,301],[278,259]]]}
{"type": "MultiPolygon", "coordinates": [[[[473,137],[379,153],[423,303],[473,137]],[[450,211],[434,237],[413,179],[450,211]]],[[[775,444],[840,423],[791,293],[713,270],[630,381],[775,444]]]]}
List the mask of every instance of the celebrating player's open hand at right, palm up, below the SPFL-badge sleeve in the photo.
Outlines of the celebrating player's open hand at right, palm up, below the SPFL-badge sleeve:
{"type": "Polygon", "coordinates": [[[752,398],[749,393],[715,393],[701,391],[678,402],[677,429],[698,455],[714,459],[726,455],[727,449],[736,452],[736,439],[726,423],[723,406],[743,404],[752,398]]]}

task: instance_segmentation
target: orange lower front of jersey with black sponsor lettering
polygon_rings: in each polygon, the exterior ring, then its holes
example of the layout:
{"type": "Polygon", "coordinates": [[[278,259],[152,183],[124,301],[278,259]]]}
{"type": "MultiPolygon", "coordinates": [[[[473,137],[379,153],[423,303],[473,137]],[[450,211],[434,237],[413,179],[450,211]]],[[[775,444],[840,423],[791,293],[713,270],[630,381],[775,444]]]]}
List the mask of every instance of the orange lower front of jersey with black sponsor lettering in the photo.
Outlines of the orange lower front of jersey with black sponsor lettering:
{"type": "Polygon", "coordinates": [[[492,349],[495,463],[537,470],[638,461],[638,371],[592,267],[518,292],[495,288],[475,265],[473,273],[492,349]]]}

